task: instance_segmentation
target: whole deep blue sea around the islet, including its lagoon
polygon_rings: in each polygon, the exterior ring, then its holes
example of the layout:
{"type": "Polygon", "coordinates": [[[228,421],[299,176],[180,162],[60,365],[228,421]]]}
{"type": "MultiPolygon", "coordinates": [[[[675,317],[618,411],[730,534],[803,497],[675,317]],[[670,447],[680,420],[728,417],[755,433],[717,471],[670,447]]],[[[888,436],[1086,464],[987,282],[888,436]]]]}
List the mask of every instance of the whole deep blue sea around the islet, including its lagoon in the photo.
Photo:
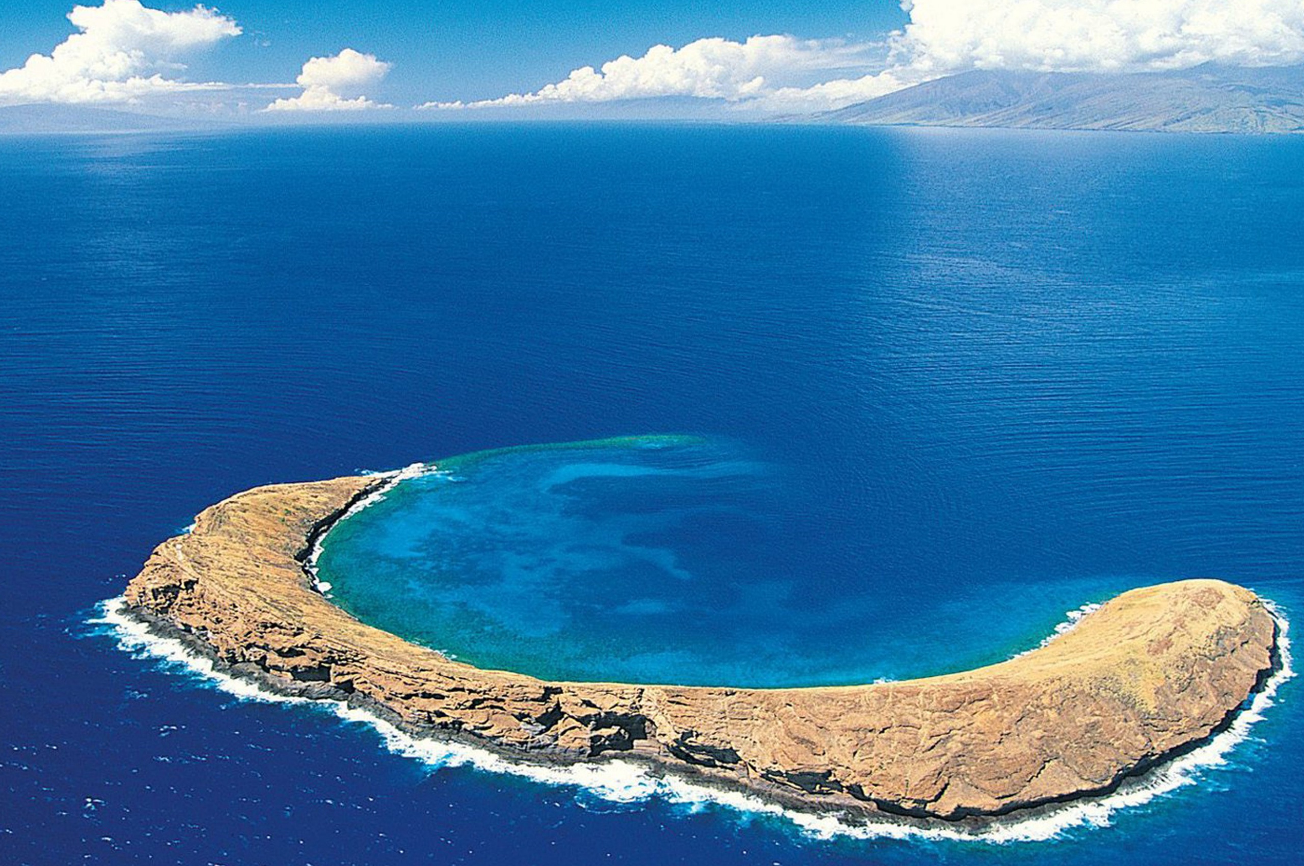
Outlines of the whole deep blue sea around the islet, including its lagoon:
{"type": "Polygon", "coordinates": [[[336,600],[542,676],[940,673],[1184,576],[1300,620],[1304,140],[0,138],[0,863],[1300,862],[1299,679],[1099,826],[819,839],[434,766],[93,621],[222,497],[416,460],[336,600]]]}

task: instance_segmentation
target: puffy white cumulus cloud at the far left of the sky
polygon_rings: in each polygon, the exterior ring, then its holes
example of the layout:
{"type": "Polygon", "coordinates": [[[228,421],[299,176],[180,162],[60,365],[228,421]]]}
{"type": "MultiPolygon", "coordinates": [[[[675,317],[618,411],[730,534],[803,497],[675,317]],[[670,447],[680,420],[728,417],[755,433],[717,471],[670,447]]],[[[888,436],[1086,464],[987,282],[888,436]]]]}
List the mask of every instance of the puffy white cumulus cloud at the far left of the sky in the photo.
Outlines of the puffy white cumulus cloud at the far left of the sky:
{"type": "Polygon", "coordinates": [[[0,104],[33,102],[124,103],[156,93],[211,90],[168,77],[185,69],[186,52],[240,35],[231,18],[202,5],[188,12],[150,9],[140,0],[73,7],[78,33],[48,55],[34,53],[0,73],[0,104]]]}

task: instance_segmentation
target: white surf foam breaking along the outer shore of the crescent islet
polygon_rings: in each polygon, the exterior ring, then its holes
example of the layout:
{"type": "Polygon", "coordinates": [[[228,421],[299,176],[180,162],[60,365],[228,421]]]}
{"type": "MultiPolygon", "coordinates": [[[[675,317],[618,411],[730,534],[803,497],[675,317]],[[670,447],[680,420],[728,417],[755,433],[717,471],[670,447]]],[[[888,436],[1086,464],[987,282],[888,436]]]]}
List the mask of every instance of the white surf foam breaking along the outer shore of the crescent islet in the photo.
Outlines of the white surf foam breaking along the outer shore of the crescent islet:
{"type": "MultiPolygon", "coordinates": [[[[377,492],[373,496],[382,493],[377,492]]],[[[366,506],[360,502],[355,507],[366,506]]],[[[333,712],[343,721],[368,726],[379,736],[389,751],[419,760],[432,771],[441,767],[473,767],[482,772],[512,775],[544,785],[580,789],[614,803],[660,798],[690,811],[719,807],[738,816],[777,819],[812,839],[939,839],[1005,844],[1045,841],[1078,827],[1107,827],[1119,810],[1141,806],[1157,797],[1196,784],[1204,772],[1226,766],[1227,755],[1251,736],[1254,724],[1261,721],[1264,712],[1273,706],[1282,683],[1295,676],[1290,623],[1275,605],[1270,601],[1265,604],[1278,623],[1281,666],[1226,730],[1198,749],[1142,776],[1124,781],[1108,796],[1034,810],[1024,816],[1007,816],[974,828],[892,818],[852,819],[836,813],[803,811],[780,806],[746,792],[664,776],[647,766],[619,759],[566,767],[516,762],[469,743],[415,737],[374,713],[342,700],[282,695],[265,690],[252,681],[232,677],[218,670],[211,660],[190,651],[180,640],[151,633],[143,622],[126,612],[126,600],[123,596],[102,601],[96,608],[96,616],[89,622],[102,627],[117,640],[121,650],[133,656],[155,660],[167,670],[197,676],[213,687],[241,700],[310,704],[325,712],[333,712]]],[[[1073,627],[1086,612],[1089,612],[1086,608],[1071,612],[1068,620],[1056,627],[1048,639],[1073,627]]]]}

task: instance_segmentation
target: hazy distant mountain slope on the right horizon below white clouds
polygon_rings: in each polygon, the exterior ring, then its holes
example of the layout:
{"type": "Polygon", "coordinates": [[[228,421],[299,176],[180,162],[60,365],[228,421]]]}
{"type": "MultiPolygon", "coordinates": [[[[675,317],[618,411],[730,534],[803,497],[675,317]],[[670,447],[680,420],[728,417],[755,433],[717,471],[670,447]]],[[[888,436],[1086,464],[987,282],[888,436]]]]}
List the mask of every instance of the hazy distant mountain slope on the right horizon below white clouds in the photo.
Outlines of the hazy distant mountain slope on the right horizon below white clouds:
{"type": "Polygon", "coordinates": [[[1294,133],[1304,132],[1304,67],[1205,64],[1131,74],[978,69],[816,119],[871,125],[1294,133]]]}

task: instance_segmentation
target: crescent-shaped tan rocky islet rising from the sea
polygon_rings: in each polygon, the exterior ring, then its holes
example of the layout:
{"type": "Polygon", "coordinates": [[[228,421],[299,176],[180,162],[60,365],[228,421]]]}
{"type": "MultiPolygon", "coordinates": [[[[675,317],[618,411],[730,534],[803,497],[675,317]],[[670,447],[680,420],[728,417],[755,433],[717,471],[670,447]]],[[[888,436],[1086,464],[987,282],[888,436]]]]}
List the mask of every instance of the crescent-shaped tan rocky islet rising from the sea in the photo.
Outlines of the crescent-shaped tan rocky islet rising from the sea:
{"type": "Polygon", "coordinates": [[[772,796],[945,819],[1106,792],[1226,724],[1275,657],[1275,621],[1252,592],[1184,580],[1127,592],[1025,656],[908,682],[752,690],[480,670],[312,588],[314,532],[376,485],[226,500],[154,550],[128,603],[237,673],[365,703],[416,733],[553,760],[638,755],[772,796]]]}

